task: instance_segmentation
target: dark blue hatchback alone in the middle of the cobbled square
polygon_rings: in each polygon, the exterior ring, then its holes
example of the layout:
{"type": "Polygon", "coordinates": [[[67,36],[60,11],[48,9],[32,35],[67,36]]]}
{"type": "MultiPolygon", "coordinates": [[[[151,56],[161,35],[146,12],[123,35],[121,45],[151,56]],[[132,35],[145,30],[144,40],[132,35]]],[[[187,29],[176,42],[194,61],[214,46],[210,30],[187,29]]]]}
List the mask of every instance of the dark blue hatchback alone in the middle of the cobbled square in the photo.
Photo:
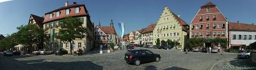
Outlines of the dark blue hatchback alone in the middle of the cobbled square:
{"type": "Polygon", "coordinates": [[[161,56],[149,50],[128,50],[125,53],[124,59],[127,63],[138,66],[144,62],[159,62],[161,56]]]}

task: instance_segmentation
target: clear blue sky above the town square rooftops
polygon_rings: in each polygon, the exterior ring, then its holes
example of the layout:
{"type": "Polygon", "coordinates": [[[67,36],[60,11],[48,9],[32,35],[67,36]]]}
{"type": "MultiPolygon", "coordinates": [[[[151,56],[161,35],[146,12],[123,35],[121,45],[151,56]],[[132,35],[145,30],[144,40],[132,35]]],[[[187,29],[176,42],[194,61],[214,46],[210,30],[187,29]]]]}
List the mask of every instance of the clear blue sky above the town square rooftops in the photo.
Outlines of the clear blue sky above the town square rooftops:
{"type": "MultiPolygon", "coordinates": [[[[44,14],[65,5],[67,0],[0,0],[0,34],[17,32],[16,27],[27,25],[29,15],[44,14]]],[[[95,25],[109,25],[113,20],[116,32],[118,22],[125,25],[125,34],[140,30],[159,19],[164,6],[179,14],[190,24],[196,12],[205,3],[216,4],[229,22],[256,23],[256,0],[68,0],[69,4],[85,4],[95,25]]]]}

